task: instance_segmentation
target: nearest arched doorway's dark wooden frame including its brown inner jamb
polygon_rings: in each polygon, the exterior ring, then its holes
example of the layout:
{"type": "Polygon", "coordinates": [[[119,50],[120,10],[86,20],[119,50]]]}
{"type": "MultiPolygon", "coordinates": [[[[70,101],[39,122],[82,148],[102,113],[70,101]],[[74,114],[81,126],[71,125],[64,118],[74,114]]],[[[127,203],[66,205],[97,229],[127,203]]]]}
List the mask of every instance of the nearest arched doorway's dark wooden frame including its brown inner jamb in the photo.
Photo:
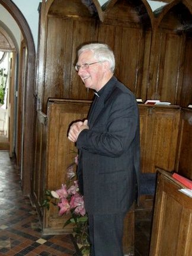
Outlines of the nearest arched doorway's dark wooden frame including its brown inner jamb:
{"type": "Polygon", "coordinates": [[[22,97],[19,98],[18,106],[18,140],[20,143],[20,158],[17,165],[21,170],[21,185],[24,195],[31,192],[31,172],[33,167],[33,131],[34,131],[34,88],[35,88],[35,45],[31,30],[25,17],[11,0],[0,0],[0,4],[10,13],[18,24],[23,35],[22,55],[22,83],[19,89],[22,97]]]}

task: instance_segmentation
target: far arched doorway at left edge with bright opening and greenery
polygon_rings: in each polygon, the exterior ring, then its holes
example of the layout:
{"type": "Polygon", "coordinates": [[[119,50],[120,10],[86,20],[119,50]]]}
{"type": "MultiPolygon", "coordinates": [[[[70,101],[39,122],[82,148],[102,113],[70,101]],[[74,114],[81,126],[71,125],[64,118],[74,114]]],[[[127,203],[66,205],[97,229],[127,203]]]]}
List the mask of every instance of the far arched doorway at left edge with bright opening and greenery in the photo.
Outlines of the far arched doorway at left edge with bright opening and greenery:
{"type": "Polygon", "coordinates": [[[16,64],[18,46],[12,32],[0,21],[0,150],[14,148],[16,119],[16,64]]]}

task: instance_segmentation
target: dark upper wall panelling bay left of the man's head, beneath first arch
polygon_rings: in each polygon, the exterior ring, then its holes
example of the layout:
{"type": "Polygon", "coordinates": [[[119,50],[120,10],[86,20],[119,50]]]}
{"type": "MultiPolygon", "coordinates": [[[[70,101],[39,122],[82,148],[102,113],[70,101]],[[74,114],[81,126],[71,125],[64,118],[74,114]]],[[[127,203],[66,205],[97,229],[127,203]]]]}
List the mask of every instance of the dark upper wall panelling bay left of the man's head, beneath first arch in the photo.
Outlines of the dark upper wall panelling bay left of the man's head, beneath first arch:
{"type": "Polygon", "coordinates": [[[93,98],[93,92],[85,88],[82,80],[76,74],[74,66],[77,61],[76,54],[79,45],[95,41],[95,22],[87,25],[85,21],[49,17],[47,33],[43,107],[45,113],[47,100],[50,97],[93,98]],[[70,33],[71,31],[73,34],[70,33]]]}

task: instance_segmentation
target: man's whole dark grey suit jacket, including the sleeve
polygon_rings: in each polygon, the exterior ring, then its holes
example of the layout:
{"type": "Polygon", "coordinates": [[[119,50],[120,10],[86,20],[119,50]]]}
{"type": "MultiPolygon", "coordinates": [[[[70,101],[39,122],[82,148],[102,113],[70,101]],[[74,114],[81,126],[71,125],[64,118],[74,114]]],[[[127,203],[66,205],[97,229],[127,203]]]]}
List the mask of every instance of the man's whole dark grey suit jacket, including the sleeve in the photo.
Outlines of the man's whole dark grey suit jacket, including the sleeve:
{"type": "Polygon", "coordinates": [[[76,142],[79,186],[89,214],[126,212],[139,191],[137,101],[115,77],[98,94],[96,109],[88,116],[89,130],[76,142]]]}

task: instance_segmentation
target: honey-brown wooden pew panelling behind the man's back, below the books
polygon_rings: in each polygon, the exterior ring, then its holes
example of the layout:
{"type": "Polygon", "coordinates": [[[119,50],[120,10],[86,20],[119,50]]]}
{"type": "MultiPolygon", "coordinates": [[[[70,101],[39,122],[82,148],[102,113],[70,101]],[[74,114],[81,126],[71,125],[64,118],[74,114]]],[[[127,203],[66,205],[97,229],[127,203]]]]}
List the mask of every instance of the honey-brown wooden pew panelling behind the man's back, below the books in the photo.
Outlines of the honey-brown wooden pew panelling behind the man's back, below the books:
{"type": "Polygon", "coordinates": [[[142,105],[139,109],[142,172],[154,173],[155,166],[173,171],[177,153],[180,109],[142,105]]]}

